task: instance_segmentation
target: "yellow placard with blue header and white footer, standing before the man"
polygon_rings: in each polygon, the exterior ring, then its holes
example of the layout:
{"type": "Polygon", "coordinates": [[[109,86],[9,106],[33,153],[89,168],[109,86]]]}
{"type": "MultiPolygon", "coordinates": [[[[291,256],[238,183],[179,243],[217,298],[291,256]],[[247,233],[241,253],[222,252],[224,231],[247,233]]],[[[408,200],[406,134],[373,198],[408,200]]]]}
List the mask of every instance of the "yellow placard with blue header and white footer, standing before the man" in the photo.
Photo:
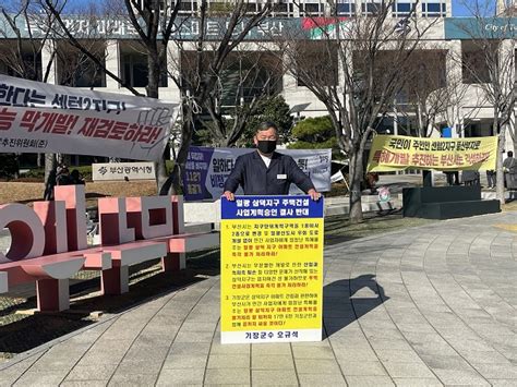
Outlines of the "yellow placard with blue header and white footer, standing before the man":
{"type": "Polygon", "coordinates": [[[323,198],[221,198],[221,342],[322,340],[323,198]]]}

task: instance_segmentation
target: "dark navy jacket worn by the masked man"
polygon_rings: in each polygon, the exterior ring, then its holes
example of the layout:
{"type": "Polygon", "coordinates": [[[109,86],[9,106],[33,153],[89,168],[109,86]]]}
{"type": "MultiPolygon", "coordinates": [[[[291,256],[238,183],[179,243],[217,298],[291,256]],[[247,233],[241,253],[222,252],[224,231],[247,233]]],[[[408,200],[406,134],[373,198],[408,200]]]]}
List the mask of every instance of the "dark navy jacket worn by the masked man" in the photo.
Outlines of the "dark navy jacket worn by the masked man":
{"type": "Polygon", "coordinates": [[[236,166],[225,182],[225,192],[236,192],[240,184],[244,195],[287,195],[291,183],[305,193],[314,189],[311,179],[292,157],[275,152],[269,168],[266,168],[255,150],[237,158],[236,166]]]}

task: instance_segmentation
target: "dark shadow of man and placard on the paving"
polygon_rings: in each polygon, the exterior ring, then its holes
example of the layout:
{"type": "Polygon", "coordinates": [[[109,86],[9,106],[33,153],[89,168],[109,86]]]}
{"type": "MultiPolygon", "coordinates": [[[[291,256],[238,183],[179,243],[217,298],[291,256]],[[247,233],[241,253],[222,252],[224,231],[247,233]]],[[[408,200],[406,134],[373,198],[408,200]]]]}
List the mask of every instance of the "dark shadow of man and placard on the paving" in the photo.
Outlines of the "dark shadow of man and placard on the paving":
{"type": "Polygon", "coordinates": [[[340,279],[323,288],[325,337],[338,332],[389,300],[374,275],[340,279]]]}

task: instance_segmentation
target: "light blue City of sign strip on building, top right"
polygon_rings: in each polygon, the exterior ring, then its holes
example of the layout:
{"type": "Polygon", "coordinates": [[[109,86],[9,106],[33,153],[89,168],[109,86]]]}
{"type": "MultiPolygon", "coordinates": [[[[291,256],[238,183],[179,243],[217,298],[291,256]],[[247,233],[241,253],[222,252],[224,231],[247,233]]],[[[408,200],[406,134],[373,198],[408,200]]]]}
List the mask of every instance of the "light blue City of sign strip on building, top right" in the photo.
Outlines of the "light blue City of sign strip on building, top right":
{"type": "Polygon", "coordinates": [[[446,17],[445,39],[515,39],[517,17],[446,17]]]}

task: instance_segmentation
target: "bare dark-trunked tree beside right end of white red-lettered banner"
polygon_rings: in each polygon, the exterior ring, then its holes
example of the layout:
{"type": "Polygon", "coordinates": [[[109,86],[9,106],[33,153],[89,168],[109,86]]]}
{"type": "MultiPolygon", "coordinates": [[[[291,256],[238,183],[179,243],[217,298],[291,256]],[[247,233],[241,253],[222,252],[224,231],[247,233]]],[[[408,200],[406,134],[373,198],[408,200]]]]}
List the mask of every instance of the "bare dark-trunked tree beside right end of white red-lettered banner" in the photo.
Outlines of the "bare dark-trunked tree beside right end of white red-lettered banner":
{"type": "MultiPolygon", "coordinates": [[[[130,89],[134,95],[140,95],[125,80],[120,78],[118,74],[113,74],[106,69],[106,66],[75,38],[74,34],[72,34],[61,17],[61,11],[67,3],[65,0],[41,1],[45,8],[56,17],[59,28],[65,34],[70,44],[99,65],[108,76],[130,89]]],[[[173,43],[181,45],[181,37],[179,39],[177,38],[179,29],[184,22],[178,17],[181,2],[173,0],[124,0],[123,3],[113,3],[115,9],[119,11],[118,16],[127,17],[132,27],[136,31],[139,36],[137,43],[141,46],[142,52],[147,56],[146,95],[147,97],[158,98],[159,81],[163,74],[164,63],[167,62],[168,46],[173,43]]],[[[226,29],[224,34],[218,37],[216,47],[212,47],[214,49],[214,56],[209,63],[205,63],[203,61],[203,51],[208,48],[206,21],[211,16],[211,12],[206,0],[200,2],[197,11],[200,31],[194,41],[195,51],[197,52],[194,69],[197,76],[192,84],[183,82],[184,80],[182,80],[178,73],[172,77],[173,82],[179,86],[182,96],[183,128],[181,132],[181,146],[177,153],[172,174],[167,177],[165,166],[166,155],[164,155],[164,158],[160,159],[157,165],[157,183],[160,194],[169,193],[172,186],[175,191],[178,191],[180,188],[181,170],[187,161],[189,146],[192,141],[194,106],[204,105],[209,92],[217,82],[217,76],[214,76],[214,74],[218,74],[224,69],[224,63],[228,55],[270,11],[270,4],[268,2],[264,4],[261,11],[253,14],[248,13],[247,7],[248,1],[238,0],[231,3],[230,13],[227,13],[227,10],[219,10],[224,11],[219,16],[227,17],[225,24],[226,29]]]]}

